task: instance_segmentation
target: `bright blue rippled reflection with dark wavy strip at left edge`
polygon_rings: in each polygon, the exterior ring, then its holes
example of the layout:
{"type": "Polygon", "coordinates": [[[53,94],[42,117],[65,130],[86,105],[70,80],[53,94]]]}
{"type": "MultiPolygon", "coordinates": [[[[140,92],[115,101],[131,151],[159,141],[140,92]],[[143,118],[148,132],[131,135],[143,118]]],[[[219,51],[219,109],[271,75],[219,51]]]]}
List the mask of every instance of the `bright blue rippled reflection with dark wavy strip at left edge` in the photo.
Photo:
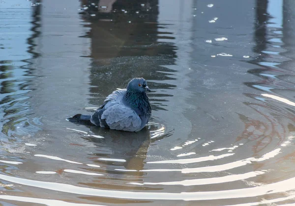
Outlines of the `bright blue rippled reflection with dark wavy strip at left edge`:
{"type": "Polygon", "coordinates": [[[8,137],[17,134],[24,135],[26,131],[35,130],[29,124],[28,116],[31,111],[26,100],[33,89],[30,87],[30,77],[33,71],[31,59],[38,56],[37,52],[33,52],[35,46],[33,39],[39,35],[41,10],[40,5],[31,7],[29,2],[19,2],[17,6],[13,3],[18,2],[9,2],[10,9],[5,10],[4,8],[2,13],[5,17],[1,18],[2,23],[8,29],[5,31],[5,28],[2,28],[1,30],[4,32],[1,35],[1,49],[5,51],[0,55],[0,104],[3,109],[1,111],[1,132],[8,137]],[[23,9],[20,15],[18,15],[19,8],[23,9]],[[12,19],[16,21],[11,21],[12,19]],[[23,32],[26,29],[31,33],[23,32]],[[26,129],[17,129],[18,126],[25,126],[26,129]]]}

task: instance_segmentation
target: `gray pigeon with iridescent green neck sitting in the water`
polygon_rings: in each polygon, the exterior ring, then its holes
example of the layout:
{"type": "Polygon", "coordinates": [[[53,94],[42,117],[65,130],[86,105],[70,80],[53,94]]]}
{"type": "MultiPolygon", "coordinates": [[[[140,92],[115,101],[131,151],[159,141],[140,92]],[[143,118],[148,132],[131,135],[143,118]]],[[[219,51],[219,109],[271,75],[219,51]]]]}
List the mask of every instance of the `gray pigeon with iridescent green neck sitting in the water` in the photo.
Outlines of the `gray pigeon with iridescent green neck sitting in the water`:
{"type": "Polygon", "coordinates": [[[92,115],[76,114],[67,120],[102,128],[139,131],[147,125],[151,116],[146,91],[150,92],[146,79],[133,78],[126,89],[110,94],[92,115]]]}

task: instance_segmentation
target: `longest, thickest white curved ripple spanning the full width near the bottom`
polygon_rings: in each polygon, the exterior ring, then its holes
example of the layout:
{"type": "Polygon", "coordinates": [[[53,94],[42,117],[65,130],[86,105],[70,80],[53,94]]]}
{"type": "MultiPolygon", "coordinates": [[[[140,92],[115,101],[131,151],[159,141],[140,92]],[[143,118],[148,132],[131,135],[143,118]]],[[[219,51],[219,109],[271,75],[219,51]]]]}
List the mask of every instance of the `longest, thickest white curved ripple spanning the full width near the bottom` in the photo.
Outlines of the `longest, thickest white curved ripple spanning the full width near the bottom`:
{"type": "Polygon", "coordinates": [[[70,184],[46,182],[37,180],[28,180],[22,178],[11,177],[7,175],[0,175],[1,180],[14,182],[22,185],[32,187],[44,188],[54,191],[67,192],[80,195],[91,195],[99,197],[110,197],[120,199],[136,199],[136,200],[220,200],[228,198],[247,198],[256,197],[265,194],[274,194],[279,192],[286,192],[295,189],[295,178],[266,184],[263,186],[221,190],[221,191],[207,191],[207,192],[130,192],[130,191],[115,191],[106,189],[93,189],[88,187],[79,187],[70,184]]]}

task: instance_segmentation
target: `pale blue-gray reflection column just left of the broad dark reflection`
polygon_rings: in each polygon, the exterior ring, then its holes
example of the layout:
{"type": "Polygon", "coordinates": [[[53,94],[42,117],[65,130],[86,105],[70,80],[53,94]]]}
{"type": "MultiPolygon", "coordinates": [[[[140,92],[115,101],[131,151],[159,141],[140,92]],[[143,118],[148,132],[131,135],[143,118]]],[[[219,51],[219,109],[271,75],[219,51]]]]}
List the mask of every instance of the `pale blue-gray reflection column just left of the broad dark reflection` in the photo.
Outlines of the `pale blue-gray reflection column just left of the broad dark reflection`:
{"type": "Polygon", "coordinates": [[[86,102],[89,58],[81,56],[89,54],[89,39],[82,37],[89,28],[73,12],[78,11],[80,2],[50,0],[41,6],[41,35],[32,40],[36,45],[33,51],[40,55],[31,60],[32,73],[36,76],[33,84],[37,89],[30,92],[29,102],[36,116],[46,114],[46,121],[55,124],[58,116],[68,115],[65,107],[86,102]],[[61,114],[62,111],[65,113],[61,114]]]}

